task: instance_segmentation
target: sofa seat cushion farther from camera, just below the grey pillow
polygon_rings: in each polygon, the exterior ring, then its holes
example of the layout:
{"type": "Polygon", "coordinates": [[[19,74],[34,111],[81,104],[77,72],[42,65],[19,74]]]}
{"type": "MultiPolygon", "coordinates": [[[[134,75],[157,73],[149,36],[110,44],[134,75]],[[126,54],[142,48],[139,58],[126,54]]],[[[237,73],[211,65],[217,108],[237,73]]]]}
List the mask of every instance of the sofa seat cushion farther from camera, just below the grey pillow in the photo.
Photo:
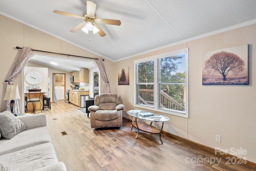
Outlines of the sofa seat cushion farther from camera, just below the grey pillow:
{"type": "Polygon", "coordinates": [[[0,155],[48,142],[51,142],[51,137],[47,127],[28,129],[12,139],[0,139],[0,155]]]}

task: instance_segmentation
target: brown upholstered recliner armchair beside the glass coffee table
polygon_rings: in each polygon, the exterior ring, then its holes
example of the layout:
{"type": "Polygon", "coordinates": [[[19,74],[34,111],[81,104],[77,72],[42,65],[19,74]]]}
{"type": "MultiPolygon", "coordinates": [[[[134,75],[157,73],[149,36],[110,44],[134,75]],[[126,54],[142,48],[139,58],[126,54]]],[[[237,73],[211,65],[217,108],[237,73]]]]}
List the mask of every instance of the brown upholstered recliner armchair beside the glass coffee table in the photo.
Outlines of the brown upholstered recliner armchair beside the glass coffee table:
{"type": "Polygon", "coordinates": [[[92,128],[121,127],[124,105],[115,93],[96,95],[94,105],[88,107],[92,128]]]}

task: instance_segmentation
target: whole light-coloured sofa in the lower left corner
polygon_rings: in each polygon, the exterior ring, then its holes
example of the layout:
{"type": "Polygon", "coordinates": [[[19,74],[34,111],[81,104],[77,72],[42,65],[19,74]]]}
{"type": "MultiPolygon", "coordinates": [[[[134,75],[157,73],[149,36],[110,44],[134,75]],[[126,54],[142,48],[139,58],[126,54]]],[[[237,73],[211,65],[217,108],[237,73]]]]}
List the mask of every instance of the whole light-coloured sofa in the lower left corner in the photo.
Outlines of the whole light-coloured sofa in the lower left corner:
{"type": "MultiPolygon", "coordinates": [[[[0,113],[2,116],[10,116],[10,112],[0,113]]],[[[11,113],[12,115],[12,113],[11,113]]],[[[24,115],[10,119],[20,119],[25,129],[15,132],[11,139],[3,137],[5,123],[0,121],[0,170],[1,171],[66,171],[64,163],[59,162],[56,156],[50,134],[46,127],[46,115],[44,113],[35,115],[24,115]],[[25,126],[24,126],[25,125],[25,126]],[[0,135],[1,136],[1,135],[0,135]]],[[[1,118],[0,118],[1,119],[1,118]]],[[[9,118],[8,118],[9,119],[9,118]]],[[[3,120],[3,119],[2,119],[3,120]]],[[[18,125],[18,129],[22,127],[18,125]]],[[[6,134],[8,135],[8,133],[6,134]]]]}

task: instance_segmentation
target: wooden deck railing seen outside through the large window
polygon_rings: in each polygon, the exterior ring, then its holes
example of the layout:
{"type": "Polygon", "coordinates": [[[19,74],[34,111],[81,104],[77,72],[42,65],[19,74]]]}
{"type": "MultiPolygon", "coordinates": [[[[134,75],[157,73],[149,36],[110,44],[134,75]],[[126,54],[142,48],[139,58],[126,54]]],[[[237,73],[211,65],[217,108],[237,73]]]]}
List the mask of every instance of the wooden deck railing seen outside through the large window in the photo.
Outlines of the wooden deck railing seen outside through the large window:
{"type": "MultiPolygon", "coordinates": [[[[170,97],[167,89],[161,90],[160,105],[162,108],[185,111],[185,107],[180,105],[175,99],[170,97]]],[[[139,103],[145,105],[154,104],[154,90],[153,89],[139,89],[139,103]]]]}

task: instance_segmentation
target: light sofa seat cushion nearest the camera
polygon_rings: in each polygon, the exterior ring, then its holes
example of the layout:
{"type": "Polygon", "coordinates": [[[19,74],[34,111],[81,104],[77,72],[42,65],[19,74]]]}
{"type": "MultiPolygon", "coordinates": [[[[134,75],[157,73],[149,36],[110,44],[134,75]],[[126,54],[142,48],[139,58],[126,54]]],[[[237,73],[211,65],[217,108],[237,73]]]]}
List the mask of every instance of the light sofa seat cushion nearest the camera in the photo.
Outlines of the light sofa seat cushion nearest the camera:
{"type": "Polygon", "coordinates": [[[57,163],[52,143],[44,143],[0,156],[0,161],[12,171],[34,171],[57,163]]]}

